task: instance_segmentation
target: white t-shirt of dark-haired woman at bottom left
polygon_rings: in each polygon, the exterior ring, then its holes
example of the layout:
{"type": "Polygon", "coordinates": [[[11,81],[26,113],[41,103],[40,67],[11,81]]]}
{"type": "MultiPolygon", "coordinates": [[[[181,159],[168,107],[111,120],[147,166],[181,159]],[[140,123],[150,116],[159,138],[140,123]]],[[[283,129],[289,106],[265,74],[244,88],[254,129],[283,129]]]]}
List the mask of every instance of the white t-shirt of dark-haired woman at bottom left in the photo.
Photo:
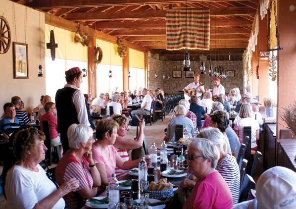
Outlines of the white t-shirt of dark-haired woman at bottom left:
{"type": "MultiPolygon", "coordinates": [[[[38,172],[14,165],[7,173],[5,193],[8,209],[32,209],[56,191],[45,170],[38,164],[38,172]]],[[[64,209],[64,199],[59,199],[52,209],[64,209]]]]}

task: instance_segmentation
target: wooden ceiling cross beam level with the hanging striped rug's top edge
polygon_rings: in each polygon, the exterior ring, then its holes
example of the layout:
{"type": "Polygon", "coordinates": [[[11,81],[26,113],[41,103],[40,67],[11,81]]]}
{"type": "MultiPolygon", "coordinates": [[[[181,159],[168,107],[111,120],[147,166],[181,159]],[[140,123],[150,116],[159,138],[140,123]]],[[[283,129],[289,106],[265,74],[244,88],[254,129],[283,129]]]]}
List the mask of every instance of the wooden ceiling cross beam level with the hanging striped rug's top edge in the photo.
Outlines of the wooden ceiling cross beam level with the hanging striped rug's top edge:
{"type": "MultiPolygon", "coordinates": [[[[256,13],[255,9],[247,6],[211,8],[210,16],[245,16],[256,13]]],[[[165,10],[119,11],[119,12],[75,12],[68,14],[65,19],[72,21],[85,20],[128,20],[128,19],[160,19],[165,18],[165,10]]]]}

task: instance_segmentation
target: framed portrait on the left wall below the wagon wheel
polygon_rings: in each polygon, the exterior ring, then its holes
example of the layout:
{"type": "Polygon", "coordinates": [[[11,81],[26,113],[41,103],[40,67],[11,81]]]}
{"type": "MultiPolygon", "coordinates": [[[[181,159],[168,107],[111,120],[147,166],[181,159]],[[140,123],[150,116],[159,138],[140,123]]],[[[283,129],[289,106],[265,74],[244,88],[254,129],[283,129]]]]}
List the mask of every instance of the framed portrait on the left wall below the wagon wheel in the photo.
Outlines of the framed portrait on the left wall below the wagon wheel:
{"type": "Polygon", "coordinates": [[[13,77],[29,78],[27,44],[13,42],[13,77]]]}

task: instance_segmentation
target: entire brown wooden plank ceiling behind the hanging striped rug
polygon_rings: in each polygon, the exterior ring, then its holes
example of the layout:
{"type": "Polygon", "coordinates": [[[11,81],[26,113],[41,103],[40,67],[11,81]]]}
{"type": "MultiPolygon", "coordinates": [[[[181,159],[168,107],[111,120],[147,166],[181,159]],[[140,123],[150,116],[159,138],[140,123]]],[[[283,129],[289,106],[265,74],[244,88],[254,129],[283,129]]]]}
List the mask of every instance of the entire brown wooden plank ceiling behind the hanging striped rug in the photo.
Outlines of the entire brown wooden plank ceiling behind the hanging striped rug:
{"type": "Polygon", "coordinates": [[[209,7],[212,60],[241,60],[259,0],[13,0],[99,32],[126,40],[171,60],[183,59],[184,50],[166,50],[165,10],[209,7]]]}

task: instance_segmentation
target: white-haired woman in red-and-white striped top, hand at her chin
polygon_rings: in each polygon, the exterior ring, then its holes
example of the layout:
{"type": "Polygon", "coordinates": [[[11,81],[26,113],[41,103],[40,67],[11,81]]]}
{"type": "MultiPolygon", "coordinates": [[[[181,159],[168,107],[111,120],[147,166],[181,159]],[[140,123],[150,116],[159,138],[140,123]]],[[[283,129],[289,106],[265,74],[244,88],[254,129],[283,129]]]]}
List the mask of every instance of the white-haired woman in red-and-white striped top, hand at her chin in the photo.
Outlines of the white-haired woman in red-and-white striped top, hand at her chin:
{"type": "Polygon", "coordinates": [[[93,130],[83,124],[72,124],[67,131],[69,147],[58,162],[55,169],[55,179],[58,185],[71,178],[79,180],[75,192],[64,197],[71,209],[80,209],[85,205],[84,199],[97,196],[101,184],[99,171],[92,155],[93,130]]]}

